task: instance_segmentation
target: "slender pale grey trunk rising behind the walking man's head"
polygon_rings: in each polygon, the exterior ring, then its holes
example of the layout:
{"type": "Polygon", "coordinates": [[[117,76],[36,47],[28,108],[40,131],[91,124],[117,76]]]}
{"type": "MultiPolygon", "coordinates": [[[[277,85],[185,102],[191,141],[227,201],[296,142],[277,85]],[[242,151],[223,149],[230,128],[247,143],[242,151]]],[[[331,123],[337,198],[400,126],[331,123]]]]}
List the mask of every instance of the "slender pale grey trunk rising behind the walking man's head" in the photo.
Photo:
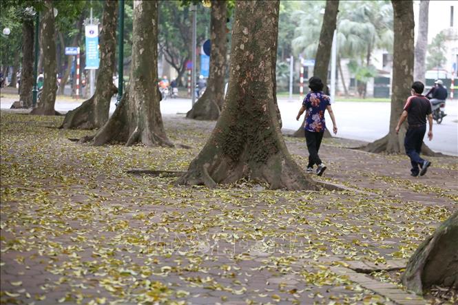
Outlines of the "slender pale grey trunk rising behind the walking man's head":
{"type": "Polygon", "coordinates": [[[415,45],[415,81],[425,83],[426,50],[428,48],[428,9],[429,0],[420,1],[417,45],[415,45]]]}

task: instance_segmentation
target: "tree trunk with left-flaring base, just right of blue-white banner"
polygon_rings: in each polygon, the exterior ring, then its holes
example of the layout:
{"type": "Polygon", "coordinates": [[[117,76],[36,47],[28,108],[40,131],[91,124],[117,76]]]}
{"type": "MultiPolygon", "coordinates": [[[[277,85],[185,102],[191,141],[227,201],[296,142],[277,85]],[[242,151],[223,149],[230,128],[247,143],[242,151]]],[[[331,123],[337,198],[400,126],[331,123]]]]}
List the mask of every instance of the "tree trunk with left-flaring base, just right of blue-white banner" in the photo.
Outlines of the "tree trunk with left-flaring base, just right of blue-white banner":
{"type": "Polygon", "coordinates": [[[116,24],[118,21],[118,1],[105,1],[103,28],[101,31],[101,66],[98,70],[94,96],[81,106],[67,112],[61,128],[94,129],[107,123],[110,101],[118,90],[113,84],[116,56],[116,24]]]}

